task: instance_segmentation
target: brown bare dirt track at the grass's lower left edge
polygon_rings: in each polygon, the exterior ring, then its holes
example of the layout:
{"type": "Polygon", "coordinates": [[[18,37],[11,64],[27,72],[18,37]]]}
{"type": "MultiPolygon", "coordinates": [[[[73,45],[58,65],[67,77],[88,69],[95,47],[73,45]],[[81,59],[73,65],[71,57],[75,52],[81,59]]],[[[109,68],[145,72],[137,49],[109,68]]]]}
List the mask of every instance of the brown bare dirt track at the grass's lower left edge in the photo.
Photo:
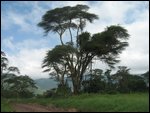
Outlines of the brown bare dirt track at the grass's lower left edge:
{"type": "Polygon", "coordinates": [[[77,112],[74,108],[64,110],[54,106],[42,106],[38,104],[15,103],[13,104],[13,108],[15,112],[77,112]]]}

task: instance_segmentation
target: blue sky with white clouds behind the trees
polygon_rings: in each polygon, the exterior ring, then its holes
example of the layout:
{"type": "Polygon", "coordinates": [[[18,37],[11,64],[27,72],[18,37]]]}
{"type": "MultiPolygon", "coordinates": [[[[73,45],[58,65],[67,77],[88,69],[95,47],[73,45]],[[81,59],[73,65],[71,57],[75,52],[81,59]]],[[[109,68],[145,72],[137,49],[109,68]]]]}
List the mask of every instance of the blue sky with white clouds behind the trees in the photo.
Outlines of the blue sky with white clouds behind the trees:
{"type": "MultiPolygon", "coordinates": [[[[42,60],[60,41],[54,33],[44,36],[37,24],[46,11],[77,4],[88,5],[89,12],[99,16],[99,20],[87,23],[85,31],[94,34],[118,24],[128,30],[129,46],[119,55],[121,61],[116,67],[127,66],[133,74],[149,70],[148,1],[2,1],[1,50],[6,53],[9,65],[17,66],[22,75],[33,79],[48,78],[48,73],[42,72],[42,60]]],[[[66,33],[63,41],[67,40],[66,33]]],[[[93,68],[108,69],[102,62],[93,62],[93,68]]]]}

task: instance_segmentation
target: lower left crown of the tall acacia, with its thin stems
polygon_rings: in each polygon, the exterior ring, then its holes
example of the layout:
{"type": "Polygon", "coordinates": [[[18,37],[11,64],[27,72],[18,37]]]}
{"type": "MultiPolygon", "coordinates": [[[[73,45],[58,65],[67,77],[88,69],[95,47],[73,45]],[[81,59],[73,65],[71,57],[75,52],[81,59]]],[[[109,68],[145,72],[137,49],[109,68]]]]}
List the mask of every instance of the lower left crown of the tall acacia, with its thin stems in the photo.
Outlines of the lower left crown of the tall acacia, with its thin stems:
{"type": "Polygon", "coordinates": [[[75,51],[71,45],[57,45],[48,51],[42,64],[42,68],[46,68],[44,72],[50,72],[59,84],[65,84],[64,76],[69,75],[66,60],[70,59],[69,55],[75,51]]]}

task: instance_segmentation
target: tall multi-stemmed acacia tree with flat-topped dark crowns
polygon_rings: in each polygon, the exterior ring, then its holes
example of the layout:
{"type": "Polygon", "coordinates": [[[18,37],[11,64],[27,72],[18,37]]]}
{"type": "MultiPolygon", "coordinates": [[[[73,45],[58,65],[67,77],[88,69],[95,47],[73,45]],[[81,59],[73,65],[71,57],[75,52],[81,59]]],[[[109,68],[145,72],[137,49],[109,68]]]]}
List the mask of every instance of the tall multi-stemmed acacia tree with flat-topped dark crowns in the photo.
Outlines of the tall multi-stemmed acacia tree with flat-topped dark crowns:
{"type": "MultiPolygon", "coordinates": [[[[75,94],[80,92],[83,75],[94,57],[98,57],[99,60],[113,67],[115,63],[119,62],[118,55],[128,46],[128,43],[123,40],[128,39],[129,34],[121,26],[110,26],[103,32],[93,35],[84,32],[87,21],[92,23],[98,19],[97,15],[87,12],[88,9],[87,5],[76,5],[49,10],[38,24],[46,34],[50,31],[58,33],[61,41],[59,48],[56,46],[48,52],[52,53],[57,50],[61,51],[61,54],[47,54],[43,67],[50,69],[50,67],[54,67],[51,65],[54,62],[63,64],[67,70],[64,70],[66,71],[64,73],[70,75],[72,79],[75,94]],[[67,30],[70,34],[70,42],[64,44],[62,37],[67,30]],[[74,36],[74,34],[76,35],[74,36]],[[73,38],[76,40],[73,41],[73,38]]],[[[59,68],[58,65],[57,67],[59,68]]]]}

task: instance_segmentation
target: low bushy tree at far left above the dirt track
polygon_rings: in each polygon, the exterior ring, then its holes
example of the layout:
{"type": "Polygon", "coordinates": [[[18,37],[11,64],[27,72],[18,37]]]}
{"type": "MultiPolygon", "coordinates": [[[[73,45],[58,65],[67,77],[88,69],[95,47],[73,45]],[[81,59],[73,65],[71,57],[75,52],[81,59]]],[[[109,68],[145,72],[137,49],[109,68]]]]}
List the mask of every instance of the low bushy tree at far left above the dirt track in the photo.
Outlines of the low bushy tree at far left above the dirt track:
{"type": "Polygon", "coordinates": [[[2,96],[7,98],[22,97],[29,98],[34,96],[36,88],[34,81],[28,76],[14,76],[5,80],[7,89],[2,91],[2,96]]]}

